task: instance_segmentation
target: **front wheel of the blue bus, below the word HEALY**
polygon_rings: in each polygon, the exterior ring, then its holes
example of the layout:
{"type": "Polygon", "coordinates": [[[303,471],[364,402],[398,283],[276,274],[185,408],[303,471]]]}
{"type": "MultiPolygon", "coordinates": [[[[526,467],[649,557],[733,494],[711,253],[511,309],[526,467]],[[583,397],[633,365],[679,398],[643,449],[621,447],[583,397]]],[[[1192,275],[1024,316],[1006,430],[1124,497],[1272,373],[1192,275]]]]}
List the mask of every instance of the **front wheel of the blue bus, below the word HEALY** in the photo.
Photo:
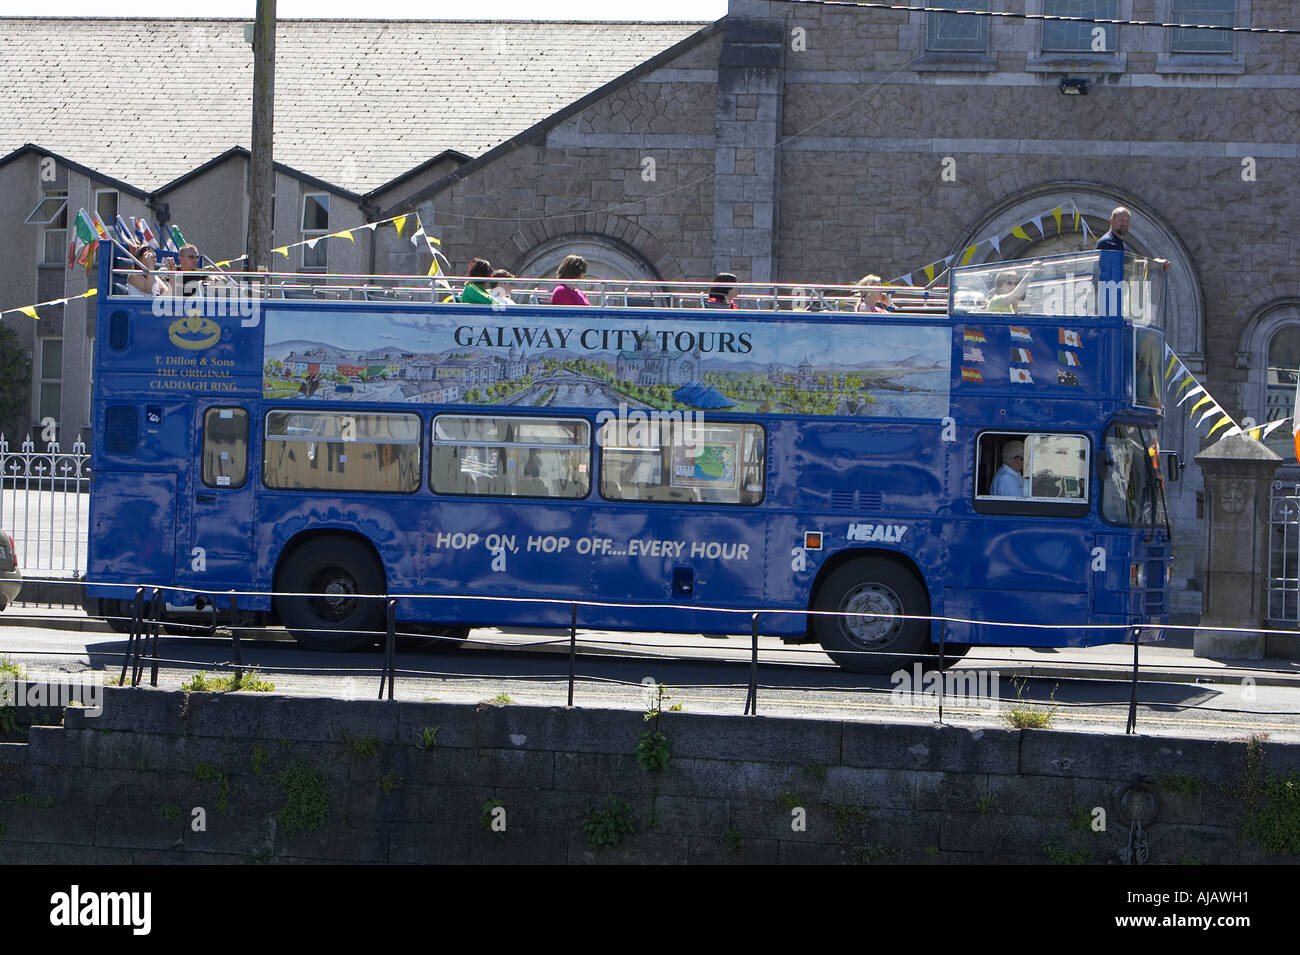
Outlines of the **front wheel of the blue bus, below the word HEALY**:
{"type": "Polygon", "coordinates": [[[881,557],[858,557],[831,572],[818,589],[812,609],[879,613],[880,617],[818,615],[812,630],[827,655],[854,673],[892,673],[930,644],[930,598],[915,574],[881,557]]]}

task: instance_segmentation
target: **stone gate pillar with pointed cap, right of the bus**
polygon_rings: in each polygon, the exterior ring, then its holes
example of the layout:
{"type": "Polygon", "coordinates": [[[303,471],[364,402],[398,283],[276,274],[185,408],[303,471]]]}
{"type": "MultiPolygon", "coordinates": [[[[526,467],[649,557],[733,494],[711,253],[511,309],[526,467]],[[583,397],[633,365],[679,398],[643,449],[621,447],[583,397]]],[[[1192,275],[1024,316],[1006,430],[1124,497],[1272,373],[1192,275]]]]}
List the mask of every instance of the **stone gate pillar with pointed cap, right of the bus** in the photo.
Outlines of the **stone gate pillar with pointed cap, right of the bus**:
{"type": "Polygon", "coordinates": [[[1196,656],[1258,660],[1269,586],[1269,489],[1282,459],[1244,434],[1222,438],[1196,464],[1205,478],[1205,595],[1196,656]]]}

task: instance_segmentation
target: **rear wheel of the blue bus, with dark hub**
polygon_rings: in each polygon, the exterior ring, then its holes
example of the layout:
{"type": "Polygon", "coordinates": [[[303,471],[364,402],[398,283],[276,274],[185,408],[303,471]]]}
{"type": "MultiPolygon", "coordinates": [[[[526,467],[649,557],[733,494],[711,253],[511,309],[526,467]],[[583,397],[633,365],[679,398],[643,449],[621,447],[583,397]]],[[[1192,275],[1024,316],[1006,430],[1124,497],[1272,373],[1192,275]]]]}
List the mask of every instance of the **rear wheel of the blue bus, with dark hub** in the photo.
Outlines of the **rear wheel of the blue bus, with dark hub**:
{"type": "Polygon", "coordinates": [[[343,538],[320,538],[296,548],[280,572],[276,605],[285,629],[312,650],[360,650],[387,629],[384,569],[370,552],[343,538]]]}

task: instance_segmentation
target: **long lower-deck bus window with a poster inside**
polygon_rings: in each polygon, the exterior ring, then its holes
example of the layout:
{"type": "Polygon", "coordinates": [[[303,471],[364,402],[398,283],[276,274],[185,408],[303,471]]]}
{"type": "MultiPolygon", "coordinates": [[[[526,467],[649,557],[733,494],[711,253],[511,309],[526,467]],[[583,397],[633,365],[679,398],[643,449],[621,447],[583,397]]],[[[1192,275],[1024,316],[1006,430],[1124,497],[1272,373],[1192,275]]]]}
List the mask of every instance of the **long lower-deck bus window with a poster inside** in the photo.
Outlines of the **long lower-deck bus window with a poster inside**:
{"type": "Polygon", "coordinates": [[[601,494],[610,500],[745,504],[763,500],[767,450],[760,425],[653,422],[601,427],[601,494]]]}

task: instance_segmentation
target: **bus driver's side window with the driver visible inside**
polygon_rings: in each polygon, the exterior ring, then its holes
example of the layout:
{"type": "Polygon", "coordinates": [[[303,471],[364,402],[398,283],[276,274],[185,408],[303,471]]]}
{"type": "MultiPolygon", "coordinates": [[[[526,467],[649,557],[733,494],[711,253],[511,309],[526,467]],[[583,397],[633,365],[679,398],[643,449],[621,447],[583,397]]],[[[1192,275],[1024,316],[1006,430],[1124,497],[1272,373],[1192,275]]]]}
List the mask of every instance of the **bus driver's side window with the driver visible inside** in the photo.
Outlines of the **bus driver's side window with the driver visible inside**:
{"type": "MultiPolygon", "coordinates": [[[[980,502],[1035,505],[1088,503],[1088,438],[1082,434],[985,433],[976,448],[975,476],[980,502]]],[[[1053,513],[1050,507],[1018,508],[1053,513]]]]}

